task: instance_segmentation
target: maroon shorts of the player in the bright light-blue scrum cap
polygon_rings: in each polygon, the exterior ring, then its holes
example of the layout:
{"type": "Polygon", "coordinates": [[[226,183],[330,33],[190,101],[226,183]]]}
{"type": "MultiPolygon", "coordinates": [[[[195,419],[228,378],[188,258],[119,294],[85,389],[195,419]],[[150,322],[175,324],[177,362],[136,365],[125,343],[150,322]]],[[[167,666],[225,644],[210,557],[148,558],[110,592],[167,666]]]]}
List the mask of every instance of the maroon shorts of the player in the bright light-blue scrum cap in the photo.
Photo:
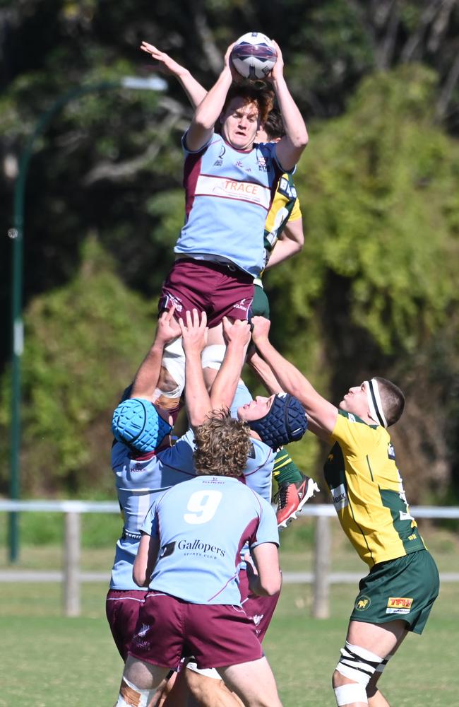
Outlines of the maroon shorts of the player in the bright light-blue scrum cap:
{"type": "Polygon", "coordinates": [[[136,629],[138,612],[145,602],[145,590],[109,589],[105,612],[119,655],[126,662],[131,638],[136,629]]]}

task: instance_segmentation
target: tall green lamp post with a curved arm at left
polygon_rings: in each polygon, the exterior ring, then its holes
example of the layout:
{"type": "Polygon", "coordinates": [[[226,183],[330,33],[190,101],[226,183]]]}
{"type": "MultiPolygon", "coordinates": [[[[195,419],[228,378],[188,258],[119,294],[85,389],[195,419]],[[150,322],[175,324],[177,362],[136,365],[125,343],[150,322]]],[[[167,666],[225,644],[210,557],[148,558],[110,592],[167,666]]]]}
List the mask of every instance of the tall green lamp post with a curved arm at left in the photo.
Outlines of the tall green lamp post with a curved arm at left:
{"type": "MultiPolygon", "coordinates": [[[[18,177],[14,188],[14,228],[8,231],[13,239],[13,265],[11,275],[11,322],[12,322],[12,352],[11,352],[11,463],[10,463],[10,497],[13,501],[20,498],[20,402],[21,402],[21,372],[24,348],[23,335],[23,233],[24,233],[24,199],[25,182],[32,157],[33,145],[52,117],[66,105],[68,101],[79,98],[85,93],[107,90],[109,88],[140,88],[148,90],[165,90],[167,83],[162,78],[138,78],[121,76],[118,81],[103,81],[92,86],[71,88],[57,98],[35,123],[25,148],[20,157],[18,177]]],[[[18,513],[9,514],[8,544],[9,559],[18,560],[19,554],[19,524],[18,513]]]]}

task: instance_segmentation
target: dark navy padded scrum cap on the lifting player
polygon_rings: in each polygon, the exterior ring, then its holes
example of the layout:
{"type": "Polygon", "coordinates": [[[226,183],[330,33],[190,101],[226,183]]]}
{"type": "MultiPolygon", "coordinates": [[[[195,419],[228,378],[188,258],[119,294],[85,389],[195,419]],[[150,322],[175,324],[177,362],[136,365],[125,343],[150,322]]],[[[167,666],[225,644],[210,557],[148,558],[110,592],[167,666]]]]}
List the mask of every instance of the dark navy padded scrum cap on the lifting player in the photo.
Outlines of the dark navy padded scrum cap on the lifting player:
{"type": "Polygon", "coordinates": [[[293,395],[279,393],[275,396],[268,414],[259,420],[249,421],[249,427],[273,449],[300,440],[308,428],[304,407],[293,395]]]}

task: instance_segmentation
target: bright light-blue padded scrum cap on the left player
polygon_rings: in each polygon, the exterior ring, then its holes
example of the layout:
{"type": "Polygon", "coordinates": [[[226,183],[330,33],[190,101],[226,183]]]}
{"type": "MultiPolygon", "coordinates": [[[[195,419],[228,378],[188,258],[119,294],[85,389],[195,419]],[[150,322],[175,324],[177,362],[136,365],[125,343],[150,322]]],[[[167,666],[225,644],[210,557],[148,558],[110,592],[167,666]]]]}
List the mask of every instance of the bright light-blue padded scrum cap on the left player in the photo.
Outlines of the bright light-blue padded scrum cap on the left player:
{"type": "Polygon", "coordinates": [[[170,432],[172,426],[162,419],[148,400],[124,400],[113,413],[114,438],[138,452],[153,452],[170,432]]]}

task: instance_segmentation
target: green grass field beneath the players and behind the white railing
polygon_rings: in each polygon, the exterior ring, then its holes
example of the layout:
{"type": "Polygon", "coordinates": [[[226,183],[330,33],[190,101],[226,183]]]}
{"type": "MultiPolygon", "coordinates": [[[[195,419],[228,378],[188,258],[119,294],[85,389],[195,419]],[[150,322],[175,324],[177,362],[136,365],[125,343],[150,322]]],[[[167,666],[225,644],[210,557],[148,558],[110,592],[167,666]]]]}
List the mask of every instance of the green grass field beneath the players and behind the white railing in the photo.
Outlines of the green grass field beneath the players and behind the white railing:
{"type": "MultiPolygon", "coordinates": [[[[424,529],[441,571],[459,571],[457,535],[424,529]]],[[[299,522],[285,534],[285,570],[310,568],[311,527],[299,522]]],[[[333,570],[365,568],[334,533],[333,570]]],[[[111,566],[112,548],[83,553],[83,568],[111,566]]],[[[5,553],[0,566],[6,566],[5,553]]],[[[58,546],[25,547],[21,568],[58,568],[58,546]]],[[[82,615],[62,617],[57,584],[0,584],[0,707],[111,707],[121,677],[121,660],[105,619],[105,584],[85,584],[82,615]]],[[[344,643],[356,588],[335,585],[330,618],[311,619],[308,585],[285,585],[264,643],[285,707],[333,707],[330,676],[344,643]]],[[[408,636],[381,680],[393,707],[456,707],[459,638],[458,584],[445,583],[422,637],[408,636]]]]}

